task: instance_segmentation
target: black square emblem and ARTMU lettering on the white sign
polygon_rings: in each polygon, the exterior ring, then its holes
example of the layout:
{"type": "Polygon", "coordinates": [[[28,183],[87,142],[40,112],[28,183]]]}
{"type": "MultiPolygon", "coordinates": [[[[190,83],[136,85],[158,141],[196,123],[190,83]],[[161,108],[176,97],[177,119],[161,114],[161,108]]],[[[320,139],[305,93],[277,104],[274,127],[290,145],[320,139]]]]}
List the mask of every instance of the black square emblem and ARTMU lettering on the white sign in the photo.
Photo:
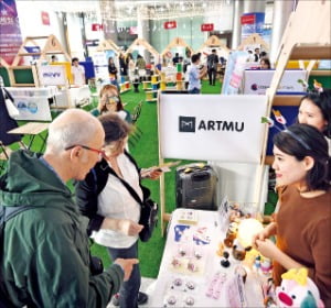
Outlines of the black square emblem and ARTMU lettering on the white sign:
{"type": "Polygon", "coordinates": [[[179,117],[179,131],[184,133],[195,133],[197,131],[232,131],[243,132],[244,122],[221,121],[221,120],[201,120],[196,122],[195,117],[179,117]]]}

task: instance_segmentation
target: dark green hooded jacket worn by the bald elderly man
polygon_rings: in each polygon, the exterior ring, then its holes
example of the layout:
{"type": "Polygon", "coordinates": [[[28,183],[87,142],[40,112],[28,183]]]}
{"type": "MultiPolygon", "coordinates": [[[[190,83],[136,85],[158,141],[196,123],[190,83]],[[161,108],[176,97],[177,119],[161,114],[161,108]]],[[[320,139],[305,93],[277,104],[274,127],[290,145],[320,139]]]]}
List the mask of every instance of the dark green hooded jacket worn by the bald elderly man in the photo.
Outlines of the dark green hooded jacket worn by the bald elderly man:
{"type": "Polygon", "coordinates": [[[87,221],[66,185],[24,151],[12,153],[0,185],[1,204],[36,207],[9,220],[3,230],[0,289],[12,306],[106,307],[124,273],[113,265],[92,276],[87,221]]]}

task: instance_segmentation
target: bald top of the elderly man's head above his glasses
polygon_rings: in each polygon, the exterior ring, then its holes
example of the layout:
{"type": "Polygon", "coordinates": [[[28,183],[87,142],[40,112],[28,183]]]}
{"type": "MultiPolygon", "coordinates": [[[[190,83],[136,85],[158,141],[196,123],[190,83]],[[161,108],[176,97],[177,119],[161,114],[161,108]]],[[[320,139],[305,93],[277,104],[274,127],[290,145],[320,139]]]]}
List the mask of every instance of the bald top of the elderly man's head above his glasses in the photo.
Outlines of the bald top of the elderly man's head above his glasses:
{"type": "Polygon", "coordinates": [[[51,123],[46,152],[60,153],[75,144],[89,144],[100,131],[100,122],[90,113],[81,109],[68,109],[51,123]]]}

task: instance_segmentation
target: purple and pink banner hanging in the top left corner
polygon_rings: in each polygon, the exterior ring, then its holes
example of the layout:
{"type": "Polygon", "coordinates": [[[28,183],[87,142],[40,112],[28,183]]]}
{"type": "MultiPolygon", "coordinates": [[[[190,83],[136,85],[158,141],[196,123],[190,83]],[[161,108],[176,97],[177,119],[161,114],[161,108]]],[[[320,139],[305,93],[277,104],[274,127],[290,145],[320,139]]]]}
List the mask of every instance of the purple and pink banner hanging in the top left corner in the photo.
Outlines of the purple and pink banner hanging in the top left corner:
{"type": "Polygon", "coordinates": [[[0,1],[0,57],[9,65],[22,45],[17,4],[14,0],[0,1]]]}

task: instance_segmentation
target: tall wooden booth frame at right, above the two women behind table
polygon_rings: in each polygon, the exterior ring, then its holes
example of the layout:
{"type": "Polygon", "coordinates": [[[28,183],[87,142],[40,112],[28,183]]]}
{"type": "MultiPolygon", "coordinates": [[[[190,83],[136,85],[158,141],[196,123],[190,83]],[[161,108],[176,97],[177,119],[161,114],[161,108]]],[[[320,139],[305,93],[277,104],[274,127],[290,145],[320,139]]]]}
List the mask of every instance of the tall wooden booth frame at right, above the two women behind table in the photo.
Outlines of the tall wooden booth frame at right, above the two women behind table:
{"type": "MultiPolygon", "coordinates": [[[[330,59],[331,58],[331,2],[324,0],[299,1],[297,10],[291,13],[284,33],[277,56],[277,67],[267,90],[269,117],[273,106],[299,106],[302,96],[276,96],[285,68],[290,59],[330,59]],[[305,21],[305,22],[302,22],[305,21]]],[[[313,67],[311,62],[310,67],[313,67]]],[[[324,73],[323,73],[324,74],[324,73]]],[[[330,70],[327,72],[330,74],[330,70]]],[[[261,164],[271,164],[273,156],[266,156],[268,125],[265,128],[261,164]]],[[[260,168],[261,169],[261,168],[260,168]]],[[[259,196],[260,182],[256,187],[259,196]]],[[[260,197],[260,196],[259,196],[260,197]]]]}

